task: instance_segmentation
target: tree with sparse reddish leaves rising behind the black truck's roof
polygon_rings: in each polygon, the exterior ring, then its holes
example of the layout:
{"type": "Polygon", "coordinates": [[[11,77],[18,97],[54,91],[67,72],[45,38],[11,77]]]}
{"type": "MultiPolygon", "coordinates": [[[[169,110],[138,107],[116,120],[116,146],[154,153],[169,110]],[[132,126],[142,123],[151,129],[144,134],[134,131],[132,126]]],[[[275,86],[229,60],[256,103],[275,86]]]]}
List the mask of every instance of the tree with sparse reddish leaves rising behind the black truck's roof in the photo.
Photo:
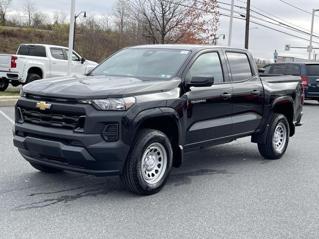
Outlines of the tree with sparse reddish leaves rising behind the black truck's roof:
{"type": "Polygon", "coordinates": [[[209,43],[217,30],[217,0],[118,0],[153,44],[209,43]],[[209,16],[209,20],[204,17],[209,16]]]}

